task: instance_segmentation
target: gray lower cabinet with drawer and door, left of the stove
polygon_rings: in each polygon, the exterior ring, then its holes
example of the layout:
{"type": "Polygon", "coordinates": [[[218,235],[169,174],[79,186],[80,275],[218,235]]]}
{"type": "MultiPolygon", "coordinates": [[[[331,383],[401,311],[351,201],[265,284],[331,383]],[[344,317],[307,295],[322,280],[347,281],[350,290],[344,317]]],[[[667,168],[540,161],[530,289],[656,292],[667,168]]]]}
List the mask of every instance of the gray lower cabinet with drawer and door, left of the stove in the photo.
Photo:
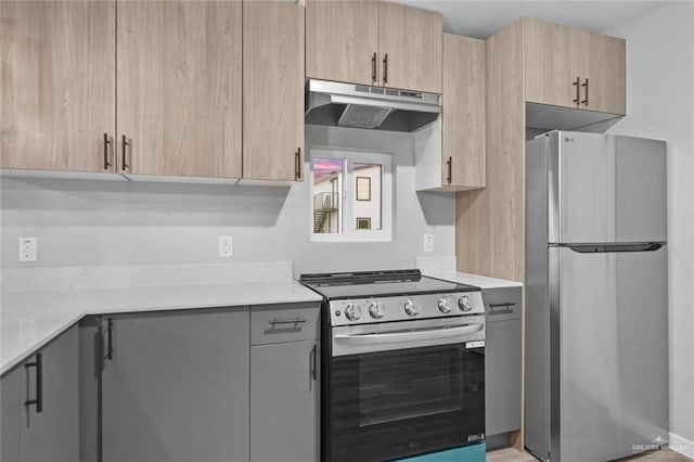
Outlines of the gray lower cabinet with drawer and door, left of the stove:
{"type": "Polygon", "coordinates": [[[318,305],[250,312],[250,461],[320,458],[318,305]]]}

